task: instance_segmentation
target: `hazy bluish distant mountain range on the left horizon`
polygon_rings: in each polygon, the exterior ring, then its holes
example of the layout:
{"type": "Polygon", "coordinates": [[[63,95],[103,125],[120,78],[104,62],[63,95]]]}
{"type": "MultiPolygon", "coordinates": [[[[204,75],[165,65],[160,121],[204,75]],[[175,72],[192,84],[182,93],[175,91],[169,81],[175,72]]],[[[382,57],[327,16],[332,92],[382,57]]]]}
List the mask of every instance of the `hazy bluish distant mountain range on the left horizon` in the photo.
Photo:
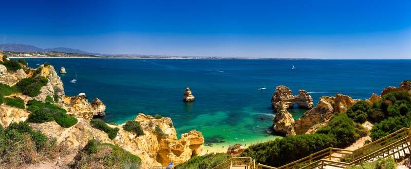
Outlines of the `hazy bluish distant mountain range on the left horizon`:
{"type": "Polygon", "coordinates": [[[63,53],[78,53],[78,54],[88,54],[88,55],[102,55],[100,53],[90,53],[78,49],[71,48],[47,48],[41,49],[32,45],[24,44],[0,44],[0,50],[11,51],[11,52],[63,52],[63,53]]]}

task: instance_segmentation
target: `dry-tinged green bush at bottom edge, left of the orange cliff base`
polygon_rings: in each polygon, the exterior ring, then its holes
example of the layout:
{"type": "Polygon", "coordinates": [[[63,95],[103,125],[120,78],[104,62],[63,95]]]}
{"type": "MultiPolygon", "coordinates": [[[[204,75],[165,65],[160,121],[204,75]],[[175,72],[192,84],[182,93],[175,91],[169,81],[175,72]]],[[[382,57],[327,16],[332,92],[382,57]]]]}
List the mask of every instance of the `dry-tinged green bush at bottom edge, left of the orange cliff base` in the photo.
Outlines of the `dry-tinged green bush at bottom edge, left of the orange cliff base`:
{"type": "Polygon", "coordinates": [[[140,168],[141,159],[119,146],[89,140],[74,157],[71,168],[140,168]]]}

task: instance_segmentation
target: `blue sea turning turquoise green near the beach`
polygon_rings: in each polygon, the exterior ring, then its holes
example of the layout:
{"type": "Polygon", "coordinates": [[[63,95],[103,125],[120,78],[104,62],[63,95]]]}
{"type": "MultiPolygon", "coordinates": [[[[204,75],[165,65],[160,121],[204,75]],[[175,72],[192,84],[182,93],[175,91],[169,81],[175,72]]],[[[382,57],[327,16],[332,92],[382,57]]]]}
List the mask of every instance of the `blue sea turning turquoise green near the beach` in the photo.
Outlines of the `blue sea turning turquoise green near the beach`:
{"type": "MultiPolygon", "coordinates": [[[[50,62],[62,75],[67,95],[85,92],[106,105],[107,122],[122,123],[138,112],[171,117],[178,135],[199,130],[206,142],[275,138],[271,95],[278,85],[323,95],[369,98],[386,86],[411,79],[411,60],[163,60],[30,58],[31,67],[50,62]],[[295,70],[291,67],[294,65],[295,70]],[[69,83],[78,74],[78,83],[69,83]],[[267,87],[265,91],[258,88],[267,87]],[[190,87],[196,97],[184,103],[190,87]],[[265,117],[266,120],[260,120],[265,117]]],[[[294,118],[305,110],[292,109],[294,118]]]]}

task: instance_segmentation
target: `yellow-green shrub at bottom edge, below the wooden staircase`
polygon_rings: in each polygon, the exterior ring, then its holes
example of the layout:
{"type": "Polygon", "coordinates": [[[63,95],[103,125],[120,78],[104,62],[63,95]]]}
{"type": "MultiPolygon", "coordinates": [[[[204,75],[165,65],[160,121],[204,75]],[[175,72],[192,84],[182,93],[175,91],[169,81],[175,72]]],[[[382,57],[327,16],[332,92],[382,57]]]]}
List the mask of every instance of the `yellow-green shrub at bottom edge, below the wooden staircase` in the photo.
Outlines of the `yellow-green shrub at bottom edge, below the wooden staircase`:
{"type": "Polygon", "coordinates": [[[349,166],[347,169],[395,169],[397,164],[393,157],[381,158],[374,162],[364,162],[357,166],[349,166]]]}

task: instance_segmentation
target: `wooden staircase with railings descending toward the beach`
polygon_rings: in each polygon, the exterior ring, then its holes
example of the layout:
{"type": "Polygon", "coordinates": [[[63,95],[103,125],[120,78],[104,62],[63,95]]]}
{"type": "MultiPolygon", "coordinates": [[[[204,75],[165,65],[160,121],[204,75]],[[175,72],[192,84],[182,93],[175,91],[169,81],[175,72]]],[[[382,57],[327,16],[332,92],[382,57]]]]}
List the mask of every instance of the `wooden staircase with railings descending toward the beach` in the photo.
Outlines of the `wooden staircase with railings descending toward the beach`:
{"type": "Polygon", "coordinates": [[[402,128],[354,151],[329,147],[279,167],[260,163],[255,165],[255,160],[251,157],[236,157],[222,162],[213,169],[345,168],[362,162],[376,161],[379,158],[393,157],[399,161],[411,153],[409,133],[409,128],[402,128]]]}

